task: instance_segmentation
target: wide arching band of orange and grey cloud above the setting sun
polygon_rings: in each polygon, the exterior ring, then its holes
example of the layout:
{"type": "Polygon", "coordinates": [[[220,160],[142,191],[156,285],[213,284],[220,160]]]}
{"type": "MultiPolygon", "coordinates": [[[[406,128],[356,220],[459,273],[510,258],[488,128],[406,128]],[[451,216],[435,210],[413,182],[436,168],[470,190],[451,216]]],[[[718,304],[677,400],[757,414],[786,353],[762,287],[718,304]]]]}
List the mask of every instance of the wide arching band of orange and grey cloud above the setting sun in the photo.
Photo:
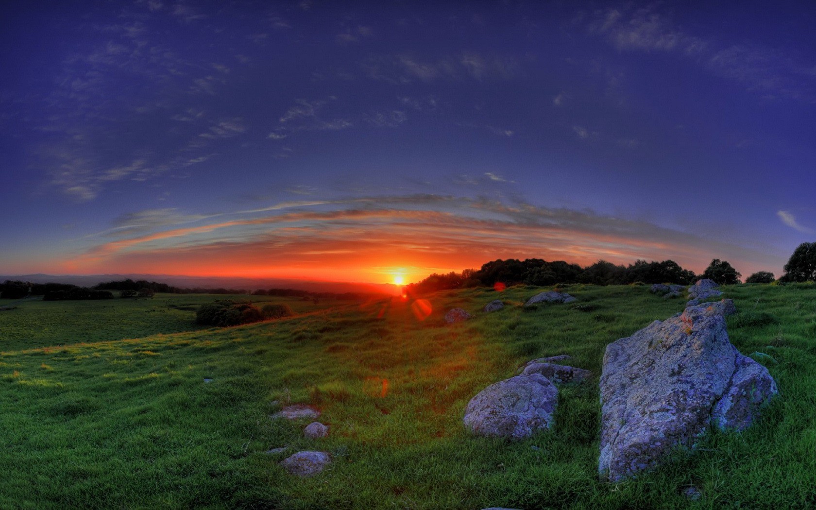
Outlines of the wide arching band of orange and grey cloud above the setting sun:
{"type": "MultiPolygon", "coordinates": [[[[765,251],[648,221],[485,197],[349,197],[280,202],[231,215],[244,217],[129,233],[92,246],[73,264],[87,271],[127,267],[140,272],[267,274],[268,254],[274,253],[273,269],[278,273],[299,268],[295,271],[299,277],[315,277],[313,272],[332,268],[342,275],[335,279],[343,280],[383,264],[460,270],[508,257],[579,264],[597,259],[632,263],[671,258],[700,268],[712,255],[727,257],[734,264],[776,262],[776,255],[765,251]],[[236,266],[237,260],[243,265],[236,266]]],[[[123,216],[118,224],[156,226],[184,220],[180,211],[159,209],[123,216]]]]}

